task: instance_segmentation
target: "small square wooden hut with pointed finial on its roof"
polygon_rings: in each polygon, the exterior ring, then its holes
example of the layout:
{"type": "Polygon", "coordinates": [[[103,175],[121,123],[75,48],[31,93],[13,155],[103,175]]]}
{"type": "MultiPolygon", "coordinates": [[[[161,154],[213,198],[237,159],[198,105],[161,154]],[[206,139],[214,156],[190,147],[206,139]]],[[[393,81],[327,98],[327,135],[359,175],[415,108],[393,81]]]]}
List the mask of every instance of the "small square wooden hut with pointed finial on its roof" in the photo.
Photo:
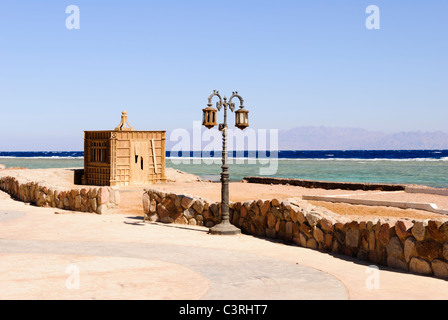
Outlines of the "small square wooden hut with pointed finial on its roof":
{"type": "Polygon", "coordinates": [[[83,184],[133,186],[165,181],[165,143],[165,131],[135,131],[123,111],[115,130],[84,132],[83,184]]]}

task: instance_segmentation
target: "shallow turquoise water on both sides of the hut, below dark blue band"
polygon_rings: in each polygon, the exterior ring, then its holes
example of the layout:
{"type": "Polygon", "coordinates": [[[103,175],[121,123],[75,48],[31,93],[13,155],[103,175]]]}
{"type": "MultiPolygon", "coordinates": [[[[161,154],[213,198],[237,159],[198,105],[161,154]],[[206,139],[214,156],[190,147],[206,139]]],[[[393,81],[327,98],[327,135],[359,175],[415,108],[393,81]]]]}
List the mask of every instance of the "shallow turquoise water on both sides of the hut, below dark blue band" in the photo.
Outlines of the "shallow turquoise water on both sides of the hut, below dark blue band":
{"type": "MultiPolygon", "coordinates": [[[[204,161],[184,159],[178,163],[168,158],[166,166],[199,175],[205,179],[219,181],[220,160],[204,161]],[[196,163],[195,163],[196,162],[196,163]],[[198,163],[199,162],[199,163],[198,163]]],[[[419,184],[448,188],[448,161],[445,160],[273,160],[260,163],[248,159],[229,160],[232,181],[240,181],[246,176],[262,176],[260,170],[274,170],[271,177],[296,178],[339,182],[371,182],[419,184]],[[240,163],[238,163],[240,162],[240,163]],[[253,163],[255,162],[255,163],[253,163]]],[[[41,168],[82,168],[82,158],[0,158],[7,167],[41,168]]]]}

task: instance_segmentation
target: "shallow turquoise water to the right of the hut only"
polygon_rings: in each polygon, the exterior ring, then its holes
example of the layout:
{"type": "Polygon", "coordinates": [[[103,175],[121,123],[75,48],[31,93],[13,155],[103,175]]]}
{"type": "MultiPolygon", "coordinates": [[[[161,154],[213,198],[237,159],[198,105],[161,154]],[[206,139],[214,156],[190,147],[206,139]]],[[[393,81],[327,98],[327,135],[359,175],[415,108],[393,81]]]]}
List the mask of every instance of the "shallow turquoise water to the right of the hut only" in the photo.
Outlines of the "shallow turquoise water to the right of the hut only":
{"type": "MultiPolygon", "coordinates": [[[[448,161],[444,160],[278,160],[277,171],[271,177],[338,182],[370,182],[419,184],[448,188],[448,161]]],[[[173,164],[167,166],[212,180],[219,179],[220,164],[173,164]]],[[[261,176],[267,164],[233,163],[229,167],[231,180],[245,176],[261,176]]],[[[273,165],[271,164],[271,167],[273,165]]]]}

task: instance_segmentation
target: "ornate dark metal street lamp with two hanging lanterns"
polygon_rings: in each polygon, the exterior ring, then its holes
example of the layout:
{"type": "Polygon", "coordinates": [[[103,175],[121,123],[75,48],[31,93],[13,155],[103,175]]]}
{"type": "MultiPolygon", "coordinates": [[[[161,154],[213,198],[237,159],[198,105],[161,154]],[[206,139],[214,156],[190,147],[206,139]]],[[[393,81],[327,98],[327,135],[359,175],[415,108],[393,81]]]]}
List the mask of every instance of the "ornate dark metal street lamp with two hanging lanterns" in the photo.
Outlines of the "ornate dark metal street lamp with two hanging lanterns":
{"type": "Polygon", "coordinates": [[[240,234],[241,230],[230,223],[229,219],[229,166],[227,165],[227,108],[232,112],[235,110],[235,104],[232,103],[233,98],[240,100],[240,109],[235,111],[235,126],[244,130],[249,126],[249,111],[244,109],[244,100],[237,91],[232,92],[229,101],[227,98],[221,98],[219,91],[213,90],[213,93],[208,97],[207,108],[203,109],[202,124],[208,129],[217,125],[217,113],[224,107],[224,123],[219,124],[219,130],[222,131],[222,172],[221,172],[221,223],[209,229],[211,234],[219,235],[236,235],[240,234]],[[213,97],[217,96],[219,101],[216,103],[216,108],[212,106],[213,97]]]}

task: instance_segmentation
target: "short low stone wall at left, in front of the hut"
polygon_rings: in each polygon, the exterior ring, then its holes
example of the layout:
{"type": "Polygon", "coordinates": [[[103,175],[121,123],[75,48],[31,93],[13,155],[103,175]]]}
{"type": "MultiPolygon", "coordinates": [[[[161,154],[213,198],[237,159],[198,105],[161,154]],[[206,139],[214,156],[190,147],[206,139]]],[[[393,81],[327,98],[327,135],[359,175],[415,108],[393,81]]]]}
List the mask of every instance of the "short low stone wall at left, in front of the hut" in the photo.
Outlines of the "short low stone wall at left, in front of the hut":
{"type": "Polygon", "coordinates": [[[85,186],[63,189],[34,181],[19,181],[15,177],[0,177],[0,190],[11,197],[38,207],[53,207],[63,210],[112,213],[120,203],[119,190],[112,187],[85,186]]]}

